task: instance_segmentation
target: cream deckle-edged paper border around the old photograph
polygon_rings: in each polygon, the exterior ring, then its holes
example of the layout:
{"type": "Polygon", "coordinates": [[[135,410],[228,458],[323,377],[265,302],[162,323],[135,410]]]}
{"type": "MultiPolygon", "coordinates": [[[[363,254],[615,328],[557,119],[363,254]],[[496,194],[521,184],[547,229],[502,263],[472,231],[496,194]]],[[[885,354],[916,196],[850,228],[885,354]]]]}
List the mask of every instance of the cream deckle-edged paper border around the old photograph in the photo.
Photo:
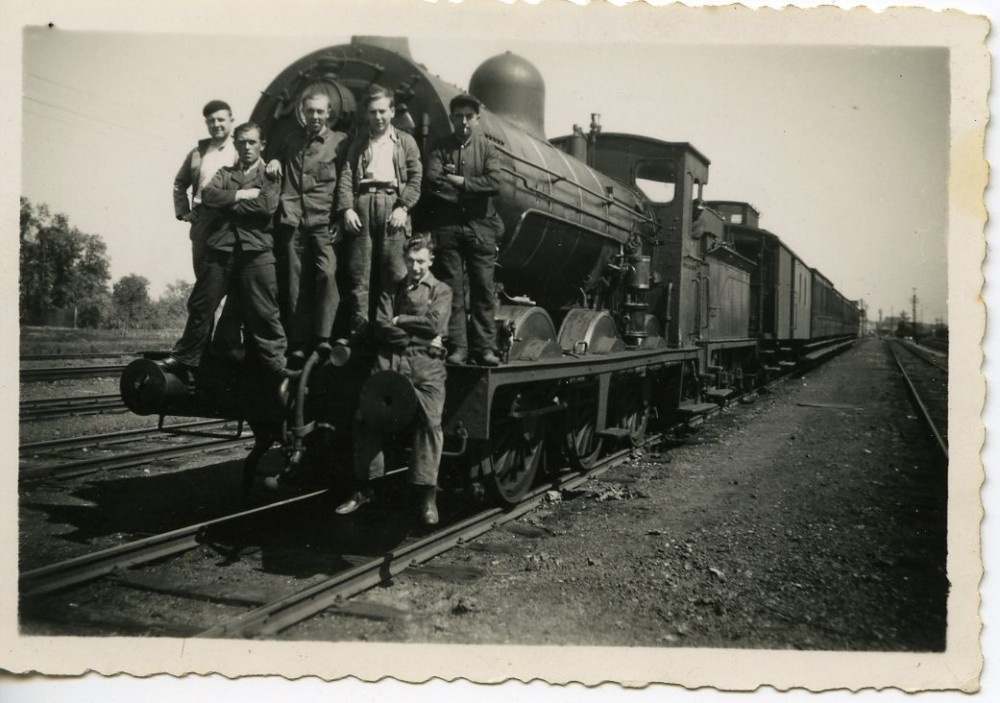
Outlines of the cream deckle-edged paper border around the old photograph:
{"type": "MultiPolygon", "coordinates": [[[[957,5],[957,3],[956,3],[957,5]]],[[[946,262],[947,320],[951,332],[950,368],[950,442],[948,505],[948,598],[947,644],[943,652],[876,651],[788,651],[692,649],[683,647],[577,647],[525,646],[523,644],[380,644],[369,642],[289,642],[275,640],[182,640],[158,637],[39,637],[23,636],[18,630],[18,490],[14,449],[14,408],[17,396],[18,368],[16,332],[17,311],[13,302],[3,307],[3,330],[9,342],[2,345],[5,404],[10,418],[3,436],[4,456],[8,458],[5,502],[0,511],[3,592],[0,594],[0,669],[12,674],[38,673],[46,676],[79,676],[88,672],[103,675],[127,673],[134,676],[170,674],[221,674],[225,677],[281,676],[291,679],[318,677],[324,680],[354,677],[362,681],[385,678],[404,682],[465,679],[476,683],[500,683],[508,680],[541,680],[550,684],[578,682],[598,685],[617,682],[624,687],[642,687],[651,683],[670,684],[666,695],[677,695],[680,688],[711,688],[722,691],[752,691],[759,687],[807,689],[810,691],[901,689],[904,691],[965,691],[979,689],[983,657],[980,650],[980,587],[983,576],[980,527],[983,507],[980,490],[984,472],[980,452],[985,430],[980,421],[985,400],[985,379],[979,369],[983,363],[981,340],[985,331],[986,310],[981,288],[982,262],[986,254],[986,206],[984,192],[988,169],[984,155],[989,120],[988,94],[991,84],[987,35],[991,31],[986,17],[961,11],[938,12],[919,7],[885,9],[873,12],[859,8],[845,10],[825,6],[813,9],[785,8],[751,10],[727,7],[652,7],[633,3],[612,7],[591,3],[581,7],[549,0],[537,5],[467,2],[461,7],[450,3],[426,3],[419,0],[378,0],[350,2],[300,0],[283,4],[246,0],[245,2],[183,3],[171,8],[140,8],[124,0],[103,0],[73,5],[61,2],[5,3],[0,9],[4,18],[2,42],[6,71],[4,89],[7,100],[2,108],[7,127],[3,153],[8,156],[10,173],[4,179],[3,217],[13,229],[13,200],[19,189],[22,159],[18,135],[22,133],[20,106],[24,30],[51,23],[52,31],[108,33],[109,41],[119,34],[169,34],[197,51],[199,42],[213,37],[242,37],[247,51],[260,50],[269,40],[297,38],[304,56],[326,46],[346,43],[351,36],[400,36],[411,41],[429,39],[454,46],[462,56],[462,66],[475,66],[490,54],[476,49],[477,43],[498,40],[512,44],[526,42],[548,47],[550,53],[628,51],[630,46],[655,51],[657,46],[690,48],[708,57],[722,47],[784,47],[794,53],[809,47],[930,48],[947,52],[948,152],[946,262]],[[567,49],[569,47],[569,49],[567,49]],[[582,48],[582,49],[581,49],[582,48]],[[21,70],[18,67],[22,67],[21,70]]],[[[638,50],[638,49],[637,49],[638,50]]],[[[415,55],[417,61],[422,61],[415,55]]],[[[232,72],[238,75],[240,60],[232,57],[229,65],[205,66],[206,71],[232,72]]],[[[86,61],[85,56],[80,57],[86,61]]],[[[137,59],[138,60],[138,59],[137,59]]],[[[144,57],[149,60],[149,57],[144,57]]],[[[571,59],[567,59],[571,60],[571,59]]],[[[608,61],[613,61],[609,57],[608,61]]],[[[456,64],[458,57],[456,57],[456,64]]],[[[281,70],[284,64],[276,64],[281,70]]],[[[696,71],[697,62],[690,64],[696,71]]],[[[455,70],[444,64],[428,64],[434,74],[449,83],[464,84],[469,70],[455,70]]],[[[628,100],[637,92],[657,91],[657,74],[662,67],[651,66],[645,75],[621,76],[622,87],[612,100],[628,100]]],[[[669,69],[666,69],[669,70],[669,69]]],[[[794,62],[789,65],[794,71],[794,62]]],[[[276,73],[275,72],[275,73],[276,73]]],[[[263,88],[273,75],[254,76],[251,85],[263,88]]],[[[761,81],[773,77],[758,76],[761,81]]],[[[603,86],[588,84],[580,75],[577,92],[597,104],[601,96],[589,91],[603,86]]],[[[859,77],[860,79],[860,77],[859,77]]],[[[199,81],[197,75],[191,83],[199,81]]],[[[706,91],[716,89],[705,85],[706,91]]],[[[200,99],[192,89],[190,102],[200,99]]],[[[120,96],[127,102],[128,96],[120,96]]],[[[815,99],[830,99],[817,91],[815,99]]],[[[663,96],[662,114],[650,114],[652,122],[669,119],[673,101],[697,100],[697,94],[663,96]]],[[[170,109],[170,106],[163,106],[170,109]]],[[[248,106],[241,106],[246,112],[248,106]]],[[[737,119],[739,110],[730,117],[737,119]]],[[[116,115],[129,120],[127,112],[116,115]]],[[[577,115],[582,120],[585,115],[577,115]]],[[[774,106],[775,120],[784,119],[782,106],[774,106]]],[[[550,136],[566,134],[571,124],[552,124],[550,136]]],[[[901,125],[902,128],[902,125],[901,125]]],[[[618,131],[611,129],[610,131],[618,131]]],[[[629,130],[636,133],[641,128],[629,130]]],[[[684,140],[685,135],[675,135],[684,140]]],[[[692,140],[694,141],[694,140],[692,140]]],[[[697,144],[696,144],[697,146],[697,144]]],[[[919,148],[919,145],[915,145],[919,148]]],[[[837,145],[831,144],[831,150],[837,145]]],[[[755,152],[756,153],[756,152],[755,152]]],[[[709,154],[719,159],[721,154],[709,154]]],[[[100,159],[95,154],[94,159],[100,159]]],[[[727,157],[732,160],[736,155],[727,157]]],[[[754,158],[759,158],[754,157],[754,158]]],[[[713,161],[715,163],[715,161],[713,161]]],[[[724,170],[719,166],[719,171],[724,170]]],[[[878,169],[877,150],[869,163],[858,169],[878,169]]],[[[165,193],[163,183],[172,173],[152,174],[146,186],[165,193]]],[[[123,183],[109,188],[136,187],[136,180],[123,174],[123,183]]],[[[823,182],[817,188],[837,188],[823,182]]],[[[940,193],[937,193],[940,196],[940,193]]],[[[872,192],[873,199],[880,194],[872,192]]],[[[165,196],[164,196],[165,197],[165,196]]],[[[885,207],[892,207],[886,204],[885,207]]],[[[72,219],[72,215],[71,215],[72,219]]],[[[136,236],[141,236],[141,226],[136,236]]],[[[872,232],[871,236],[878,236],[872,232]]],[[[17,272],[13,262],[17,245],[6,239],[3,282],[8,300],[15,297],[17,272]]],[[[181,247],[181,244],[177,245],[181,247]]],[[[865,256],[863,251],[847,249],[844,258],[865,256]]],[[[891,261],[884,262],[891,269],[891,261]]],[[[914,285],[919,285],[915,282],[914,285]]],[[[996,508],[996,505],[993,506],[996,508]]],[[[20,545],[24,549],[25,545],[20,545]]],[[[995,577],[994,577],[995,578],[995,577]]],[[[996,591],[994,587],[994,592],[996,591]]],[[[996,625],[994,624],[994,627],[996,625]]],[[[992,652],[994,664],[996,652],[992,652]]],[[[438,688],[431,689],[439,691],[438,688]]],[[[246,691],[247,689],[238,689],[246,691]]],[[[263,690],[263,689],[261,689],[263,690]]],[[[267,689],[271,690],[271,689],[267,689]]],[[[394,689],[395,690],[395,689],[394,689]]],[[[603,689],[605,692],[607,688],[603,689]]],[[[361,689],[367,695],[368,689],[361,689]]],[[[406,692],[396,693],[403,696],[406,692]]],[[[426,691],[425,691],[426,692],[426,691]]],[[[475,690],[466,691],[478,695],[475,690]]],[[[294,689],[285,695],[295,695],[294,689]]],[[[648,693],[648,691],[647,691],[648,693]]],[[[372,694],[374,695],[374,694],[372,694]]],[[[445,695],[447,692],[445,692],[445,695]]],[[[537,688],[527,692],[540,696],[537,688]]],[[[372,698],[374,699],[374,697],[372,698]]]]}

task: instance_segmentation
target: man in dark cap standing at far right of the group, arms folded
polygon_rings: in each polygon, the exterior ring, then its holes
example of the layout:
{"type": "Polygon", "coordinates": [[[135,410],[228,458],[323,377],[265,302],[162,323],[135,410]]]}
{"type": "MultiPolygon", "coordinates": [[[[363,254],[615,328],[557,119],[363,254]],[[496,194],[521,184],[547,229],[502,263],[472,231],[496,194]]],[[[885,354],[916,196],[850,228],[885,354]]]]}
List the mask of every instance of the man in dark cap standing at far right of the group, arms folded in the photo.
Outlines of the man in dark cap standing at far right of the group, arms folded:
{"type": "Polygon", "coordinates": [[[448,106],[453,132],[427,158],[426,225],[434,232],[438,277],[454,291],[448,329],[448,362],[500,363],[496,343],[493,267],[503,222],[493,207],[500,189],[501,157],[479,131],[479,101],[458,95],[448,106]],[[466,330],[463,264],[469,277],[466,330]]]}

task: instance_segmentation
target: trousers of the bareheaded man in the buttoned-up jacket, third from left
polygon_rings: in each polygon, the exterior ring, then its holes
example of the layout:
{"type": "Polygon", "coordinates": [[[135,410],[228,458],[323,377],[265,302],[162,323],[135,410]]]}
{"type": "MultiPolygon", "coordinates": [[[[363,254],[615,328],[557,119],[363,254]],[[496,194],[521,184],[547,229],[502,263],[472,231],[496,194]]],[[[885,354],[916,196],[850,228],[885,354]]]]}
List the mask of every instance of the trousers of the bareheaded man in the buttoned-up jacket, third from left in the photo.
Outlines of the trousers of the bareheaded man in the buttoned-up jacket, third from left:
{"type": "Polygon", "coordinates": [[[329,339],[340,305],[337,254],[330,226],[285,225],[278,234],[282,247],[281,299],[288,341],[293,348],[302,348],[317,338],[329,339]]]}

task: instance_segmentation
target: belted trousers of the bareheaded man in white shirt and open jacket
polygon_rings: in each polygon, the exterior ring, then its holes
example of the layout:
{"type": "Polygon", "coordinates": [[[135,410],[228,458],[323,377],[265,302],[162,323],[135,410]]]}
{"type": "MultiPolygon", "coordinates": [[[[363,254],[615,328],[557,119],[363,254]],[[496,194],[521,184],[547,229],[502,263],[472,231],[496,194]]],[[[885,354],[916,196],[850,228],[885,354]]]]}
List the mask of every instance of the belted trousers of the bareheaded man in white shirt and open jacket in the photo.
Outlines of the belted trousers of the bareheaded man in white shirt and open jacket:
{"type": "Polygon", "coordinates": [[[379,296],[406,277],[403,244],[405,230],[389,231],[396,196],[389,193],[363,193],[354,201],[354,211],[361,220],[357,234],[345,232],[351,319],[369,322],[375,319],[379,296]]]}

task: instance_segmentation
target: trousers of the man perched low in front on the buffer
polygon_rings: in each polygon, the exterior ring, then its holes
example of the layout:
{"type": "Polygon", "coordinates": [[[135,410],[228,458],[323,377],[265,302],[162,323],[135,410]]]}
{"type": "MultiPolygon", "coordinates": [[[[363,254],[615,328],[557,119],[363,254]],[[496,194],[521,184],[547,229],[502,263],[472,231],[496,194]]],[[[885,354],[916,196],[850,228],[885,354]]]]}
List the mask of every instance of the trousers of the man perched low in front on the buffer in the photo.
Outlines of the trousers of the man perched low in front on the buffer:
{"type": "MultiPolygon", "coordinates": [[[[413,384],[417,392],[417,410],[410,437],[410,466],[407,480],[415,486],[436,486],[444,431],[444,383],[447,376],[444,361],[417,350],[416,353],[379,355],[376,367],[380,371],[397,371],[413,384]]],[[[354,475],[365,481],[385,475],[382,446],[385,436],[369,427],[360,417],[354,421],[354,475]]]]}

